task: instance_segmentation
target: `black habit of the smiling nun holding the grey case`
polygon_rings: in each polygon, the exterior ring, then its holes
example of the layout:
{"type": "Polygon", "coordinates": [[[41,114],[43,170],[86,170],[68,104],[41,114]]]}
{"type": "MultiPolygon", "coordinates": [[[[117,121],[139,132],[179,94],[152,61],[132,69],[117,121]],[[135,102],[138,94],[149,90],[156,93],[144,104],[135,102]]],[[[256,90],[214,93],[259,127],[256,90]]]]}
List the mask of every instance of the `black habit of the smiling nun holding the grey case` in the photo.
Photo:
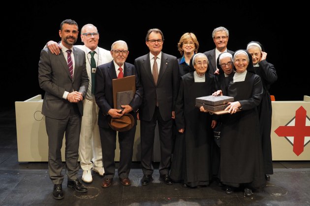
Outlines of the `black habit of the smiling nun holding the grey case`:
{"type": "Polygon", "coordinates": [[[245,81],[230,81],[223,95],[234,97],[242,110],[222,115],[220,137],[220,180],[227,185],[248,183],[253,188],[265,185],[257,106],[263,87],[258,75],[248,72],[245,81]]]}

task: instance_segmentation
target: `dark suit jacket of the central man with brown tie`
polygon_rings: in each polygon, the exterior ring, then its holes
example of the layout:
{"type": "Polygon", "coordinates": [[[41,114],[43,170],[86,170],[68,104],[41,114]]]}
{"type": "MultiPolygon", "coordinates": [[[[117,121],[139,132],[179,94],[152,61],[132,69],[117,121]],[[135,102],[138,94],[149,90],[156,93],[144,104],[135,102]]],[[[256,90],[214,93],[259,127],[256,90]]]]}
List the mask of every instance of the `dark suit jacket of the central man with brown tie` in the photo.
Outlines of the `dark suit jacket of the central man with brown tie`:
{"type": "Polygon", "coordinates": [[[179,63],[175,56],[161,52],[161,62],[157,85],[155,85],[150,53],[135,59],[134,65],[143,86],[143,101],[139,108],[139,117],[151,121],[155,112],[156,97],[159,112],[164,121],[171,119],[179,90],[179,63]]]}

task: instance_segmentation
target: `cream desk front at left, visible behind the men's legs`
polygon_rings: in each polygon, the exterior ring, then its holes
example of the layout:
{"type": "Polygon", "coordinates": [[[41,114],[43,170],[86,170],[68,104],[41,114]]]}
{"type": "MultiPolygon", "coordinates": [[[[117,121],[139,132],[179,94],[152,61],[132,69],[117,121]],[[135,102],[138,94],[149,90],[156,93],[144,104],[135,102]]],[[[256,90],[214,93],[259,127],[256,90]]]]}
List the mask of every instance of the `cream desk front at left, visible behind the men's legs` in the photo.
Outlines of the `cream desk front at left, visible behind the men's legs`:
{"type": "MultiPolygon", "coordinates": [[[[19,162],[48,161],[48,137],[45,116],[42,115],[42,97],[37,95],[24,102],[15,102],[16,133],[19,162]]],[[[115,161],[120,160],[120,146],[117,137],[115,161]]],[[[65,138],[62,142],[62,161],[64,161],[65,138]]],[[[104,152],[104,151],[103,151],[104,152]]],[[[140,161],[140,121],[138,121],[133,146],[132,161],[140,161]]],[[[160,160],[158,131],[155,132],[154,161],[160,160]]],[[[79,159],[80,161],[80,159],[79,159]]]]}

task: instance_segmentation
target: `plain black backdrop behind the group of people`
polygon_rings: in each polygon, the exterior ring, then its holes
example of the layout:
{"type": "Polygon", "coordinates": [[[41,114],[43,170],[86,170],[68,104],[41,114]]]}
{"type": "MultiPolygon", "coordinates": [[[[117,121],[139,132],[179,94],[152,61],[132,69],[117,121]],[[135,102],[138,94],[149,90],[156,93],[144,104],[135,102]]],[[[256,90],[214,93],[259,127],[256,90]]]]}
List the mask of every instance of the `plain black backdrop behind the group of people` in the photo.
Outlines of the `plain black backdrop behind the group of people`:
{"type": "MultiPolygon", "coordinates": [[[[303,100],[304,95],[310,95],[310,73],[306,69],[309,56],[303,52],[309,50],[305,42],[309,37],[306,27],[297,25],[307,13],[303,13],[298,1],[281,5],[281,9],[270,3],[249,0],[11,3],[2,8],[10,15],[1,18],[2,51],[6,48],[13,51],[4,54],[2,64],[5,97],[2,107],[14,107],[15,101],[44,95],[38,85],[40,51],[48,40],[60,41],[59,26],[64,19],[75,20],[79,31],[88,23],[97,26],[99,47],[104,49],[110,50],[116,40],[126,41],[130,52],[127,62],[132,64],[135,58],[148,52],[145,36],[149,28],[162,30],[163,52],[180,57],[177,43],[183,33],[195,33],[199,52],[206,52],[215,48],[213,29],[224,26],[230,34],[229,50],[246,49],[250,41],[259,41],[265,47],[267,60],[277,69],[278,81],[270,89],[277,101],[303,100]],[[296,8],[300,15],[290,15],[296,8]]],[[[76,44],[82,44],[80,37],[76,44]]]]}

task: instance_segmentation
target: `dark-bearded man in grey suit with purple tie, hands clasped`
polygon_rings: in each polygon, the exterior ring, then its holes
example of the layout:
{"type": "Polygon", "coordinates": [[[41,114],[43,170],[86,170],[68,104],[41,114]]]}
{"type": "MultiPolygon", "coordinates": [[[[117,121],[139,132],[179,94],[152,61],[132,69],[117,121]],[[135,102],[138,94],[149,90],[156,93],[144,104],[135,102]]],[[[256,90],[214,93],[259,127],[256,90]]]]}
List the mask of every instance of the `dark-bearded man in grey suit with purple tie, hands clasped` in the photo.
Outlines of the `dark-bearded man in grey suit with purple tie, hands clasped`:
{"type": "Polygon", "coordinates": [[[77,192],[87,192],[87,188],[77,178],[82,100],[89,84],[85,53],[73,47],[78,33],[75,21],[64,20],[59,30],[62,38],[61,55],[54,55],[45,48],[41,51],[39,61],[39,85],[45,91],[42,114],[45,115],[48,135],[49,175],[54,183],[55,199],[63,198],[61,148],[64,134],[67,186],[77,192]]]}

